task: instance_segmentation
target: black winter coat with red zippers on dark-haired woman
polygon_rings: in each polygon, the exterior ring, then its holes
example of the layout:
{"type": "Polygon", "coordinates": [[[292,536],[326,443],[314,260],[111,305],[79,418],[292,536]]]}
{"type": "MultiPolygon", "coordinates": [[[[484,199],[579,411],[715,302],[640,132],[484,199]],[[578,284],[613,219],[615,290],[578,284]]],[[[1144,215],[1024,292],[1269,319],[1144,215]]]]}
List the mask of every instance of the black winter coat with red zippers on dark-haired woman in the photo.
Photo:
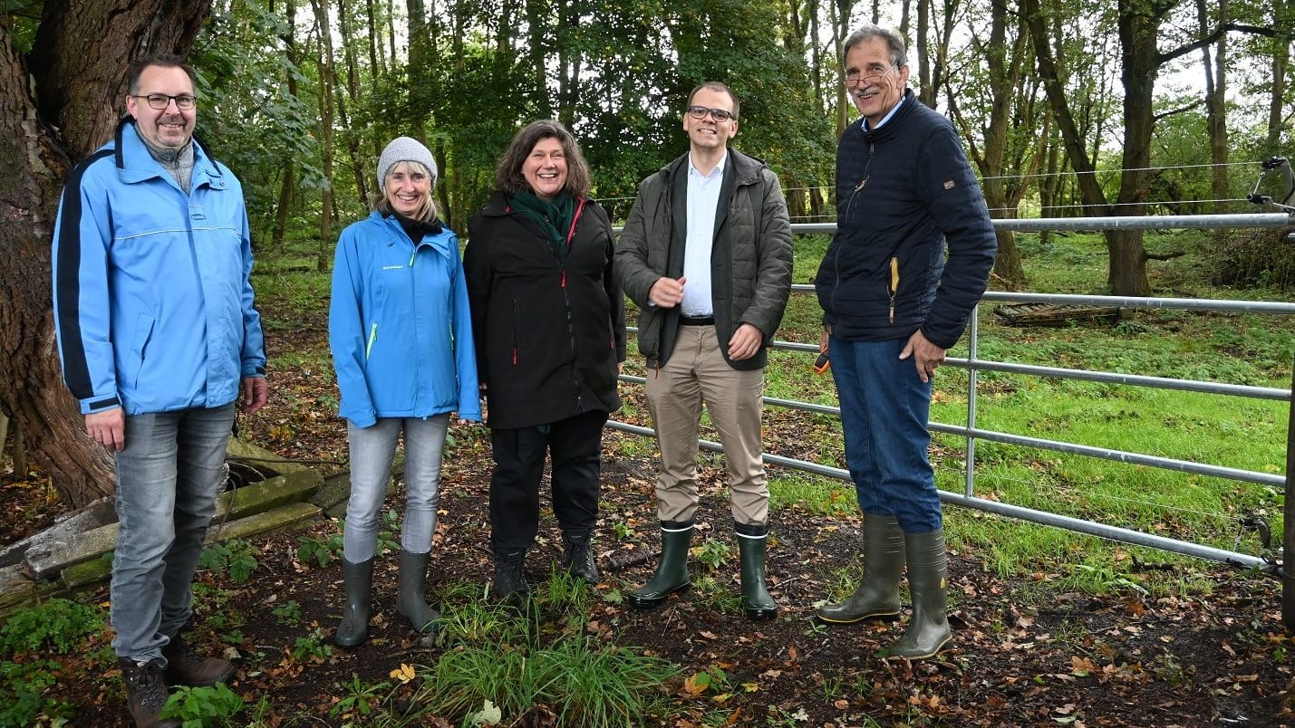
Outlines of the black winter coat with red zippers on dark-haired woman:
{"type": "Polygon", "coordinates": [[[625,305],[611,274],[611,221],[593,200],[576,207],[565,260],[504,193],[467,224],[464,272],[491,428],[620,409],[625,305]]]}

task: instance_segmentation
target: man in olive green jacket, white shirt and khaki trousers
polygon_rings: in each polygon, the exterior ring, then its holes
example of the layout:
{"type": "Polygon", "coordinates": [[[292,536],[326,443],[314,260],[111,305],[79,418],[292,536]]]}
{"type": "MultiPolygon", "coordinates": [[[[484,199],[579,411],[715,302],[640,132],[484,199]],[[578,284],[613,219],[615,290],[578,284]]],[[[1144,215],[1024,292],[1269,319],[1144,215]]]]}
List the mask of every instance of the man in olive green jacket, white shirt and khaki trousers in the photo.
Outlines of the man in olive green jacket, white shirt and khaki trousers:
{"type": "Polygon", "coordinates": [[[778,605],[764,579],[769,489],[760,418],[767,348],[791,291],[791,226],[777,175],[728,149],[737,119],[726,85],[693,89],[684,112],[689,151],[640,185],[616,248],[616,277],[640,309],[638,349],[660,449],[662,559],[629,603],[657,606],[689,584],[704,402],[724,445],[742,606],[764,619],[778,605]]]}

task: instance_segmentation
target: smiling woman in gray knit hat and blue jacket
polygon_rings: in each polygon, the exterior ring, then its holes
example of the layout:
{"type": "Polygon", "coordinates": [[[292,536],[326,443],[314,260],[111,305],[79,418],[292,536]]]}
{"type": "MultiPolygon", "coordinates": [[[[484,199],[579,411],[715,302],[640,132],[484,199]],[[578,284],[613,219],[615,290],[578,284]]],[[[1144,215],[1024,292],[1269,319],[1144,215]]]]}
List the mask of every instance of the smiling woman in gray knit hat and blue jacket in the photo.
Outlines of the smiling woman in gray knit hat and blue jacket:
{"type": "Polygon", "coordinates": [[[396,610],[418,631],[439,614],[425,579],[436,526],[449,412],[480,422],[477,362],[458,237],[436,219],[436,162],[398,137],[378,159],[374,211],[342,231],[333,264],[329,347],[351,445],[342,537],[346,606],[335,641],[368,639],[378,513],[404,433],[405,513],[396,610]]]}

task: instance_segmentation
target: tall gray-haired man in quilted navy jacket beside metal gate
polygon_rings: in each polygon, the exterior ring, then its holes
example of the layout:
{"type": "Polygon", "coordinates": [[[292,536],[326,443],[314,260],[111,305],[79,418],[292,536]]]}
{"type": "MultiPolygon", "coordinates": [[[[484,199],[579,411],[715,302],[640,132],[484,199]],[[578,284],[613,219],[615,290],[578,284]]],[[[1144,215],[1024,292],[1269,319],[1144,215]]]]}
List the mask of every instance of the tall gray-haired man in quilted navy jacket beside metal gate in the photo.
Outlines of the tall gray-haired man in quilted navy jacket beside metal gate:
{"type": "Polygon", "coordinates": [[[913,618],[888,654],[921,659],[951,637],[927,456],[931,376],[984,294],[997,244],[953,124],[906,88],[904,39],[865,26],[846,39],[843,58],[862,118],[837,149],[837,235],[815,287],[864,511],[864,575],[848,600],[817,616],[848,623],[899,614],[906,561],[913,618]]]}

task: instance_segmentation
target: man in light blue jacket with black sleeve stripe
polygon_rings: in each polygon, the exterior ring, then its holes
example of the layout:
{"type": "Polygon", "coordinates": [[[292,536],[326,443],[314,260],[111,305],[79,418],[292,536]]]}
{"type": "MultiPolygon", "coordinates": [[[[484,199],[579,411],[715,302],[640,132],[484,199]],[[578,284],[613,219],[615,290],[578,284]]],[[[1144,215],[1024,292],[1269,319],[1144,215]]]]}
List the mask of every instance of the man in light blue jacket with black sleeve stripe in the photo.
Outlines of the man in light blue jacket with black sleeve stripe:
{"type": "Polygon", "coordinates": [[[115,138],[67,178],[53,239],[63,381],[117,458],[113,648],[137,725],[163,681],[212,685],[233,665],[185,643],[234,406],[265,403],[242,186],[193,140],[193,69],[131,63],[115,138]]]}

